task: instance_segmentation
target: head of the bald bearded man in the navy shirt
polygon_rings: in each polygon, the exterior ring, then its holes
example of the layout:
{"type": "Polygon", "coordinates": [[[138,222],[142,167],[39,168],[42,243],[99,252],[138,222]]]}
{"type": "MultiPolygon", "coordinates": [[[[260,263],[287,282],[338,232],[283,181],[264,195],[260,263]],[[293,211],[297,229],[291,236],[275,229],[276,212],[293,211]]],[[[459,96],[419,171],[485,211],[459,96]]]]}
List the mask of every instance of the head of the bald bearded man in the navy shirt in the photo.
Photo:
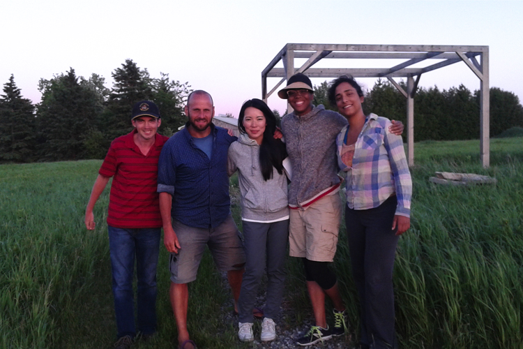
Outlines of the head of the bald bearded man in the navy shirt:
{"type": "Polygon", "coordinates": [[[209,126],[214,117],[214,107],[211,96],[194,94],[185,105],[185,114],[189,118],[189,132],[193,137],[209,135],[209,126]],[[195,133],[195,134],[192,134],[195,133]]]}

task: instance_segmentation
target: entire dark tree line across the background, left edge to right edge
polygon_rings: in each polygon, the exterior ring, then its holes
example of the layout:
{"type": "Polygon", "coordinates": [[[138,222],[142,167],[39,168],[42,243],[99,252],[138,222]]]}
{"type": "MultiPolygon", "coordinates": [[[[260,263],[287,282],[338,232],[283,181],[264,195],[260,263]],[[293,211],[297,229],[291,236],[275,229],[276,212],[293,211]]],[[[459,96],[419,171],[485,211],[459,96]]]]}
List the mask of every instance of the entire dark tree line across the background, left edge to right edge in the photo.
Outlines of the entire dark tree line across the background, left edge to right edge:
{"type": "MultiPolygon", "coordinates": [[[[188,82],[168,74],[152,78],[132,59],[112,72],[112,89],[93,73],[89,79],[66,73],[41,79],[42,101],[22,98],[13,75],[0,95],[0,162],[63,161],[103,158],[114,138],[130,132],[130,111],[140,100],[154,101],[162,114],[162,135],[172,135],[185,124],[188,82]]],[[[407,89],[404,82],[400,85],[407,89]]],[[[335,110],[327,98],[328,82],[314,86],[314,104],[335,110]]],[[[440,91],[418,88],[414,97],[414,140],[470,140],[480,135],[479,91],[460,85],[440,91]]],[[[407,123],[406,98],[387,80],[367,92],[363,110],[407,123]]],[[[497,87],[490,89],[490,135],[523,127],[519,98],[497,87]]]]}

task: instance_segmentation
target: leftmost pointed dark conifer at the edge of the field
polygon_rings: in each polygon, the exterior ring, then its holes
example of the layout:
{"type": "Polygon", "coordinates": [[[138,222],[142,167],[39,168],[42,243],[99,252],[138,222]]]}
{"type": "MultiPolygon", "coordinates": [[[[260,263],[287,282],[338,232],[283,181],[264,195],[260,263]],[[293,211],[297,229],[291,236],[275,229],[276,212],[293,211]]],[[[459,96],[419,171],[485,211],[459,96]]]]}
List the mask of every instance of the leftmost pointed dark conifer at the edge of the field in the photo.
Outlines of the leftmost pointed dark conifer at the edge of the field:
{"type": "Polygon", "coordinates": [[[0,98],[0,161],[34,160],[34,106],[20,92],[11,74],[0,98]]]}

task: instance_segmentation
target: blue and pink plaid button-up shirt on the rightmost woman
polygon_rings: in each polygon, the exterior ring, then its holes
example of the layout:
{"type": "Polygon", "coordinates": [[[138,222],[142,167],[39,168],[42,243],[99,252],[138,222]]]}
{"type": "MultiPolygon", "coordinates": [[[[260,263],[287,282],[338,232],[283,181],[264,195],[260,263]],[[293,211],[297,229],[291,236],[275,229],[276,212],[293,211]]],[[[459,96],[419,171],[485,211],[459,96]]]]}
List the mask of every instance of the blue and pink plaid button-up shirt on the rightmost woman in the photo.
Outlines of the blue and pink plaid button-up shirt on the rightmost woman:
{"type": "Polygon", "coordinates": [[[347,173],[345,191],[351,209],[372,209],[395,194],[396,214],[410,216],[412,179],[401,136],[388,131],[391,121],[370,114],[356,140],[352,167],[340,157],[347,127],[336,138],[338,166],[347,173]]]}

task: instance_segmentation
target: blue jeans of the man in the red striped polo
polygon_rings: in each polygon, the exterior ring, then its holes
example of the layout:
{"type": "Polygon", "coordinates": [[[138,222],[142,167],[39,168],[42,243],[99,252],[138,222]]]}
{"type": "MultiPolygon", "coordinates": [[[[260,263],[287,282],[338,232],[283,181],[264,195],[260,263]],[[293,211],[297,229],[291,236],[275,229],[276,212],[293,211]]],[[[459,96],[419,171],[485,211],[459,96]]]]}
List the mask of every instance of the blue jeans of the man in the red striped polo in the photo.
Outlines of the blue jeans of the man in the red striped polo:
{"type": "Polygon", "coordinates": [[[156,266],[160,251],[160,228],[123,229],[109,226],[112,292],[118,338],[135,336],[135,294],[132,278],[138,279],[138,329],[156,332],[156,266]]]}

